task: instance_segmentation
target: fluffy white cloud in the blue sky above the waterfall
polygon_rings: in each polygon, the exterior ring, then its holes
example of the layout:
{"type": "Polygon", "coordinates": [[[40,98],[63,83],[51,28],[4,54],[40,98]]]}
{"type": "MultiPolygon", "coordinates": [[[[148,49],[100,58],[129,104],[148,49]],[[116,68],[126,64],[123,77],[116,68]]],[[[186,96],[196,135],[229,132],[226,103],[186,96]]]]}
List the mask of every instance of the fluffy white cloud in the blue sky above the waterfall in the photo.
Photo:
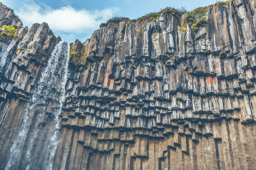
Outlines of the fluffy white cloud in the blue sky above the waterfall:
{"type": "Polygon", "coordinates": [[[46,22],[53,32],[84,33],[97,29],[102,22],[112,18],[118,11],[117,7],[101,11],[75,10],[72,6],[53,9],[46,5],[39,6],[30,1],[30,3],[23,3],[16,14],[27,25],[46,22]]]}

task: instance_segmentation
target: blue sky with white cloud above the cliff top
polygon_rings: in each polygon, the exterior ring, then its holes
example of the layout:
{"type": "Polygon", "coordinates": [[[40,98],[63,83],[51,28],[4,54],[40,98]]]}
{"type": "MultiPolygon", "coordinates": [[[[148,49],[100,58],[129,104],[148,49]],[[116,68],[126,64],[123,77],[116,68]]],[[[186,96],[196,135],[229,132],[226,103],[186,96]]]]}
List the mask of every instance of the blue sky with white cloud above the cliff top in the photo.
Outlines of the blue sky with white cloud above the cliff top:
{"type": "Polygon", "coordinates": [[[0,0],[13,8],[24,26],[46,22],[55,36],[69,42],[84,42],[102,22],[113,16],[130,19],[158,12],[165,7],[185,7],[190,11],[200,6],[216,3],[216,0],[0,0]]]}

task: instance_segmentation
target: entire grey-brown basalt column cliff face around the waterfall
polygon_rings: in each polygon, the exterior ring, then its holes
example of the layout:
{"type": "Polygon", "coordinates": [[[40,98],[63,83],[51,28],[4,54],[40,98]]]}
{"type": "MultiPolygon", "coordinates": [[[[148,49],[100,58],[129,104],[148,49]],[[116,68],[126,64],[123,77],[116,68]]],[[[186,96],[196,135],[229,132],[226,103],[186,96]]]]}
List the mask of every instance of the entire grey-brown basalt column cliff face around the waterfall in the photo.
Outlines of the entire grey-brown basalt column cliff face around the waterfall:
{"type": "MultiPolygon", "coordinates": [[[[30,108],[13,167],[255,169],[256,2],[205,10],[207,24],[197,29],[184,25],[187,14],[164,12],[155,20],[105,24],[72,43],[54,158],[48,159],[47,128],[59,114],[57,74],[46,102],[30,108]]],[[[27,31],[1,5],[3,25],[16,32],[1,33],[0,169],[12,161],[24,112],[61,41],[46,23],[27,31]]]]}

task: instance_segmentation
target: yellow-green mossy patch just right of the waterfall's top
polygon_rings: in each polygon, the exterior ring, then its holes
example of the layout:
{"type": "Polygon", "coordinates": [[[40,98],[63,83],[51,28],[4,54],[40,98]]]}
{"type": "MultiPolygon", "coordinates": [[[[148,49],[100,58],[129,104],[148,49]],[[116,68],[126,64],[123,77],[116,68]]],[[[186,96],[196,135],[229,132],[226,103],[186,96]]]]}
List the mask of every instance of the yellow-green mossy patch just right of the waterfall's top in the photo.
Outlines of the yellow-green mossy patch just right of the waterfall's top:
{"type": "Polygon", "coordinates": [[[75,66],[81,65],[81,62],[86,62],[87,56],[84,55],[84,50],[81,49],[79,52],[76,52],[75,49],[73,49],[73,45],[71,44],[71,50],[69,52],[69,61],[72,61],[75,66]]]}

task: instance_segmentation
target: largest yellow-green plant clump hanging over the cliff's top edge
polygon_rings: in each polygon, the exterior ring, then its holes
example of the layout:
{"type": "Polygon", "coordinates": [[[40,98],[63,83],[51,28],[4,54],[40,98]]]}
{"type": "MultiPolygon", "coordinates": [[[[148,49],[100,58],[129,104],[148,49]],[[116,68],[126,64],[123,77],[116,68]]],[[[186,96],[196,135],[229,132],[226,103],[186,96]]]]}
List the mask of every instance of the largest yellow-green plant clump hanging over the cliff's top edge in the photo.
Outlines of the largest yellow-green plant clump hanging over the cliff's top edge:
{"type": "Polygon", "coordinates": [[[207,24],[206,20],[207,7],[199,7],[191,12],[187,12],[184,15],[183,27],[181,31],[187,32],[187,24],[191,25],[191,29],[196,33],[201,27],[205,27],[207,24]]]}

